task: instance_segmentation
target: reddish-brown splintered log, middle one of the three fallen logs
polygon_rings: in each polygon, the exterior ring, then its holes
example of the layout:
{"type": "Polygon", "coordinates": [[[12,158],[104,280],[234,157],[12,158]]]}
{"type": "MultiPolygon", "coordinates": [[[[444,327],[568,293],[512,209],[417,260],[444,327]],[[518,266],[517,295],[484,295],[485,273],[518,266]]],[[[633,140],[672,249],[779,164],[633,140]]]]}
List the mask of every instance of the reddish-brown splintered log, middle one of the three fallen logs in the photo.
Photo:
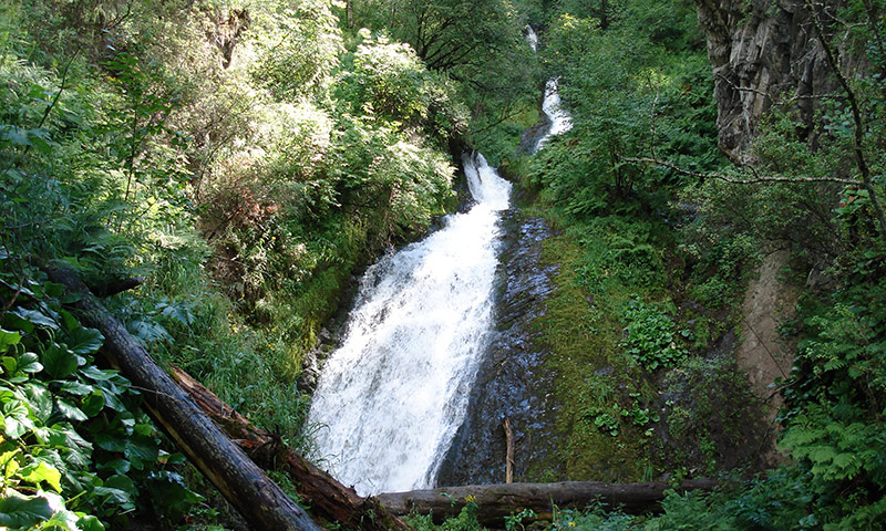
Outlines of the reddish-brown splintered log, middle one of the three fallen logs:
{"type": "Polygon", "coordinates": [[[299,496],[311,500],[311,511],[318,518],[363,531],[411,531],[402,520],[388,511],[375,498],[363,498],[320,470],[301,455],[285,447],[278,436],[256,427],[225,404],[212,391],[178,367],[171,374],[194,402],[235,442],[265,468],[281,468],[299,496]]]}

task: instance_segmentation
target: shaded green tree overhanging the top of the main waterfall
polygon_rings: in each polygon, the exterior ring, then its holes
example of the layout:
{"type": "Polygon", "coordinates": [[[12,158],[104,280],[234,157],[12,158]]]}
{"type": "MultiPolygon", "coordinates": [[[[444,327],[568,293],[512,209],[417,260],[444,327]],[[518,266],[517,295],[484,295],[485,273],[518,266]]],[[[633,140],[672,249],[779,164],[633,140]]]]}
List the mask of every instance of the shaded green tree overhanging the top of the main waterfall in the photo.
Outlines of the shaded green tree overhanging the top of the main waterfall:
{"type": "Polygon", "coordinates": [[[430,71],[456,80],[459,97],[471,108],[466,139],[497,165],[537,118],[543,80],[524,29],[526,13],[539,7],[527,3],[356,0],[349,22],[408,43],[430,71]]]}

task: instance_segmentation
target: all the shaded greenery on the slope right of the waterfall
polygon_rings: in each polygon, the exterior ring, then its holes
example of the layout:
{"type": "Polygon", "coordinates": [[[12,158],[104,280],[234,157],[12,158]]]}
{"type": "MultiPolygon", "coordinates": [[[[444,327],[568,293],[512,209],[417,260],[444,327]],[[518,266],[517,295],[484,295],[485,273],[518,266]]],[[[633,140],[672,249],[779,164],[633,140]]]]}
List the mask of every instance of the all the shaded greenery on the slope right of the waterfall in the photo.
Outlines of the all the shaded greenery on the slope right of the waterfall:
{"type": "Polygon", "coordinates": [[[563,468],[679,479],[744,466],[731,477],[752,478],[673,496],[660,518],[597,510],[555,529],[882,527],[886,7],[831,9],[811,24],[846,70],[832,72],[812,124],[796,122],[800,98],[780,95],[753,170],[715,148],[692,6],[564,1],[548,12],[543,59],[575,126],[513,171],[537,195],[532,209],[563,229],[548,243],[562,272],[542,323],[566,405],[563,468]],[[776,250],[791,257],[782,283],[802,291],[781,329],[795,356],[780,386],[786,459],[753,475],[766,427],[732,337],[749,277],[776,250]]]}

